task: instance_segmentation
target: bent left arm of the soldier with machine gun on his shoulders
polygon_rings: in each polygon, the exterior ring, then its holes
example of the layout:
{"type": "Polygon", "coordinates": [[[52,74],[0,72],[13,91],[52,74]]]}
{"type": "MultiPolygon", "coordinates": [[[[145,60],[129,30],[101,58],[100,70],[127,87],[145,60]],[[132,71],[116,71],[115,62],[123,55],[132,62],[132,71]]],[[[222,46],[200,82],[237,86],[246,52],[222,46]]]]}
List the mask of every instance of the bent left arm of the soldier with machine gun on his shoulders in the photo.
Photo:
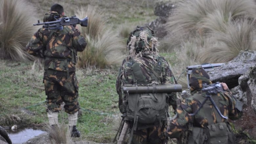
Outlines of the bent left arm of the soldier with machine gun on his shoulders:
{"type": "Polygon", "coordinates": [[[43,46],[43,35],[41,31],[42,29],[39,29],[33,34],[28,44],[26,45],[26,51],[33,56],[43,58],[44,46],[43,46]]]}

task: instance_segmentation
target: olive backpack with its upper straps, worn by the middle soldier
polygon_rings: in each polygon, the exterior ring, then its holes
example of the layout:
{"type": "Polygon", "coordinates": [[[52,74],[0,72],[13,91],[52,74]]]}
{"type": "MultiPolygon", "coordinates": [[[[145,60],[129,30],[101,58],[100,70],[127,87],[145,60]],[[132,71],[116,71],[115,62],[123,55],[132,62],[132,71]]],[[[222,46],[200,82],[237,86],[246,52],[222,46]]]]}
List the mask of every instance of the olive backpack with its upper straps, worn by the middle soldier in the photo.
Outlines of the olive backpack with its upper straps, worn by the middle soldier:
{"type": "MultiPolygon", "coordinates": [[[[140,58],[131,58],[128,61],[129,67],[132,69],[132,78],[134,85],[146,86],[149,84],[143,76],[140,65],[144,65],[152,72],[152,80],[161,83],[160,77],[163,70],[162,58],[158,56],[158,64],[149,68],[140,58]]],[[[128,104],[126,106],[126,120],[134,122],[134,130],[137,123],[154,124],[167,120],[168,104],[166,102],[167,93],[131,93],[127,94],[128,104]]]]}

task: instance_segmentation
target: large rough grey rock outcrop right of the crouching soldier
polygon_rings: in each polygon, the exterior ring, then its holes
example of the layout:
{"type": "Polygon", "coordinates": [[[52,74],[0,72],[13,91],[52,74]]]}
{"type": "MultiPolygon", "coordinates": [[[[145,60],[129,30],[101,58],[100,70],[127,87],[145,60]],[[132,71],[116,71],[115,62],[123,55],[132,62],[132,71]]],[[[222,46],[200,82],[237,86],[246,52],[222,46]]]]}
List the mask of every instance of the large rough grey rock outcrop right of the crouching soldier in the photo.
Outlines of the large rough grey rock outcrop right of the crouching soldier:
{"type": "Polygon", "coordinates": [[[231,121],[235,128],[256,139],[256,51],[241,51],[228,63],[208,72],[213,82],[225,82],[233,95],[244,103],[243,116],[231,121]]]}

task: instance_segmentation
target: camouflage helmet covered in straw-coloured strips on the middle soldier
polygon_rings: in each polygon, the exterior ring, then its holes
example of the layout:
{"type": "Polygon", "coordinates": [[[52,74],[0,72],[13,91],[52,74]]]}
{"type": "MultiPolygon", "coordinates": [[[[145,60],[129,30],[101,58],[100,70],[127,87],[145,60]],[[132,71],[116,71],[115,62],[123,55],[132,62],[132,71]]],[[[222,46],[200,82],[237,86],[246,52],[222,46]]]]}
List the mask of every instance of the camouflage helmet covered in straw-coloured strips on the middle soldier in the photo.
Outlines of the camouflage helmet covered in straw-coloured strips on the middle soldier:
{"type": "Polygon", "coordinates": [[[148,26],[137,26],[134,31],[130,33],[127,40],[127,49],[132,56],[138,56],[141,52],[157,53],[159,42],[153,30],[148,26]]]}

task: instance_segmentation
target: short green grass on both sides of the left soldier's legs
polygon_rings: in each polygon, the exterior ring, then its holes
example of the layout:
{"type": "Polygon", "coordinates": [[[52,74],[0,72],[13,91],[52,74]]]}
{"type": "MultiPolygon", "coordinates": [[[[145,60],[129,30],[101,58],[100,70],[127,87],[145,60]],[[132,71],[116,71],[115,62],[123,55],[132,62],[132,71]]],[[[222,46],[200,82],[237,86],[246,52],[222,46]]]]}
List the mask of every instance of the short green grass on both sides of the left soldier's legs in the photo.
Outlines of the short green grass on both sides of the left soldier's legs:
{"type": "MultiPolygon", "coordinates": [[[[33,63],[0,61],[1,126],[18,127],[48,123],[45,112],[46,95],[42,83],[43,71],[31,70],[33,63]],[[30,115],[29,115],[30,114],[30,115]]],[[[79,102],[81,115],[78,128],[81,139],[110,142],[115,135],[118,96],[115,91],[117,70],[80,69],[79,102]]],[[[67,119],[59,114],[59,121],[67,119]]]]}

